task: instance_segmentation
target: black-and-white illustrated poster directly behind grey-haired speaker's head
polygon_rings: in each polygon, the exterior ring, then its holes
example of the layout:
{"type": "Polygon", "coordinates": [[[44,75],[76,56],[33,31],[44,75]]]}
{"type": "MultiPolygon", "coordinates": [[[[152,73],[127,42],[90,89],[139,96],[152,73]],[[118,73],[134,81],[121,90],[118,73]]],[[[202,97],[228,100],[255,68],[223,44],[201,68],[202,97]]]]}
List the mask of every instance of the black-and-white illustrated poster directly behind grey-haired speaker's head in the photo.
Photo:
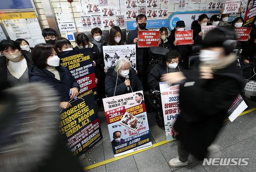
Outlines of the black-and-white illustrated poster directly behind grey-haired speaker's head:
{"type": "Polygon", "coordinates": [[[132,64],[132,68],[136,70],[136,45],[111,45],[103,46],[103,55],[105,67],[116,66],[116,61],[121,57],[126,57],[132,64]]]}

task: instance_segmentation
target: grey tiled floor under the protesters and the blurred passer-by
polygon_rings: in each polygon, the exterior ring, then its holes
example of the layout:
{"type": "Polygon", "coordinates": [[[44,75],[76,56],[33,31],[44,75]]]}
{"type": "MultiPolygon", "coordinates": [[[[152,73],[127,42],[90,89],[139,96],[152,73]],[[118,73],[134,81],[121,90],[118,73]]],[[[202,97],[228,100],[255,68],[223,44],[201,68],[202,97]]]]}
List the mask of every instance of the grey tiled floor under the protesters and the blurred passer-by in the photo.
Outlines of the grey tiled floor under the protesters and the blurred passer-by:
{"type": "MultiPolygon", "coordinates": [[[[256,107],[256,103],[245,99],[248,109],[256,107]]],[[[152,143],[165,140],[164,129],[159,128],[154,120],[154,113],[148,113],[149,129],[152,143]]],[[[103,112],[99,113],[103,140],[86,152],[82,160],[84,167],[113,158],[112,146],[103,112]]],[[[255,172],[256,171],[256,111],[238,117],[234,122],[225,122],[219,136],[214,141],[215,153],[212,158],[249,158],[248,165],[213,166],[202,165],[189,155],[189,165],[182,168],[170,168],[168,161],[177,154],[177,141],[142,151],[132,156],[96,167],[88,172],[255,172]]]]}

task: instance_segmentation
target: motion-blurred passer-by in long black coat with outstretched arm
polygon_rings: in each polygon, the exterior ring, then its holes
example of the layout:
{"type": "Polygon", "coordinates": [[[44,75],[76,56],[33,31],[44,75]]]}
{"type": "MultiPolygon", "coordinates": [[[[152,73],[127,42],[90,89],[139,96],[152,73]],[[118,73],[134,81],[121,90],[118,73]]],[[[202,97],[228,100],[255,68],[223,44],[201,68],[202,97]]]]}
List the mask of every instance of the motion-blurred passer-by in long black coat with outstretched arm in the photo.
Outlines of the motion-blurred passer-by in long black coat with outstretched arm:
{"type": "Polygon", "coordinates": [[[203,39],[200,51],[200,67],[188,73],[168,73],[162,81],[180,84],[181,113],[174,129],[178,133],[179,158],[171,159],[170,167],[188,165],[189,153],[197,159],[207,157],[224,119],[227,109],[243,89],[237,57],[233,54],[236,41],[232,28],[217,27],[203,39]]]}

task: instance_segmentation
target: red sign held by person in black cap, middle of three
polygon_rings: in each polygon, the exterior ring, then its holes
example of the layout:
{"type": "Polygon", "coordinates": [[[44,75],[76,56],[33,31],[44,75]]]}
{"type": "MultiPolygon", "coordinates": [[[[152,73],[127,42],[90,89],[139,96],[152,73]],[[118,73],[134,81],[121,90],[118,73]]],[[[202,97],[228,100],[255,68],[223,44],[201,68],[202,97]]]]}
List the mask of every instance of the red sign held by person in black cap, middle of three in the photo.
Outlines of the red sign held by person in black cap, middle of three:
{"type": "Polygon", "coordinates": [[[175,31],[176,45],[192,44],[193,30],[175,31]]]}

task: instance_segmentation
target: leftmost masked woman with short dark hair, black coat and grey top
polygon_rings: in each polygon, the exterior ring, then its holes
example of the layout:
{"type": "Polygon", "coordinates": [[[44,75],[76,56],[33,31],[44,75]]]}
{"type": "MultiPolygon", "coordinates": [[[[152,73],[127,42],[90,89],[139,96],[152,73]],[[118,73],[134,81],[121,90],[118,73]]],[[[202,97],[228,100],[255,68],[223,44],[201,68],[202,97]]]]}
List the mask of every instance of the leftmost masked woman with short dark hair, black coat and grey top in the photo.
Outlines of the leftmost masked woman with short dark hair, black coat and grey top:
{"type": "Polygon", "coordinates": [[[5,89],[28,83],[28,68],[32,66],[31,53],[21,50],[13,40],[0,42],[0,87],[5,89]]]}

